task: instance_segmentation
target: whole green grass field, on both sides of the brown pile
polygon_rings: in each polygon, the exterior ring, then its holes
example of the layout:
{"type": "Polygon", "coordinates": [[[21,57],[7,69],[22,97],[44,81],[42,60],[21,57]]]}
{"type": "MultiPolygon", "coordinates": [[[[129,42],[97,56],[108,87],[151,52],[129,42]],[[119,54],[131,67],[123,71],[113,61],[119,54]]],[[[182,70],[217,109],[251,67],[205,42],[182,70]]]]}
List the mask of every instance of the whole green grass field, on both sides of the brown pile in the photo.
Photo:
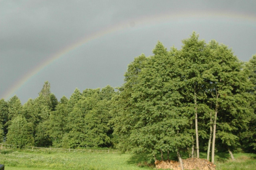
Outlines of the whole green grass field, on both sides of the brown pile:
{"type": "MultiPolygon", "coordinates": [[[[204,158],[205,153],[200,157],[204,158]]],[[[235,153],[236,161],[228,153],[216,153],[217,170],[254,170],[256,154],[235,153]]],[[[172,156],[175,159],[175,155],[172,156]]],[[[185,155],[183,156],[186,157],[185,155]]],[[[0,163],[5,170],[152,170],[145,165],[146,155],[106,152],[51,152],[0,150],[0,163]]]]}

